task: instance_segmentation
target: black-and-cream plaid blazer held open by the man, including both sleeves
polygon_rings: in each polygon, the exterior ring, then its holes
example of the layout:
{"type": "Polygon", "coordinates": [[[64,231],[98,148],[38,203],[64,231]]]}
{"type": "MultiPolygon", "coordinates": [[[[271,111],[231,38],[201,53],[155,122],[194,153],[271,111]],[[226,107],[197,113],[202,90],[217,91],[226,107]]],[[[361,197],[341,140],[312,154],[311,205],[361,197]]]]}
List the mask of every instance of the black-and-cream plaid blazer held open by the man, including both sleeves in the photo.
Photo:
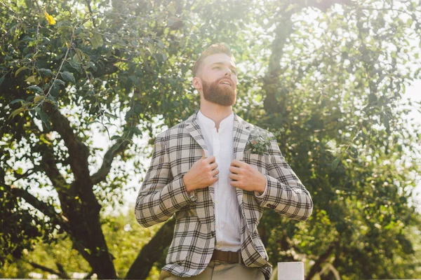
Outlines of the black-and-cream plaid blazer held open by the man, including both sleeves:
{"type": "MultiPolygon", "coordinates": [[[[241,213],[241,255],[248,267],[259,267],[269,279],[272,267],[258,234],[263,208],[288,218],[306,220],[312,214],[312,199],[272,141],[265,155],[244,153],[253,125],[234,115],[234,159],[256,167],[267,177],[264,197],[236,189],[241,213]]],[[[197,112],[156,137],[151,165],[140,188],[135,216],[144,227],[161,223],[175,214],[173,241],[164,270],[178,276],[201,273],[215,247],[213,188],[196,190],[189,197],[182,176],[208,149],[197,123],[197,112]]]]}

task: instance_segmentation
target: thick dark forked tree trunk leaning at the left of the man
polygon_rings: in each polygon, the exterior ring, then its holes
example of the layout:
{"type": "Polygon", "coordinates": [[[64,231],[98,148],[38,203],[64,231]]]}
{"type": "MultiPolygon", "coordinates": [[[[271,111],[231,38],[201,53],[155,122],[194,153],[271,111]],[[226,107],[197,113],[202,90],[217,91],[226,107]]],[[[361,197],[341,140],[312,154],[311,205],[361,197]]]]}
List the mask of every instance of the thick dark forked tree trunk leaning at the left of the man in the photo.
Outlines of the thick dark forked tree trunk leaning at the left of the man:
{"type": "Polygon", "coordinates": [[[60,134],[69,150],[67,158],[74,174],[74,181],[68,184],[60,174],[52,144],[43,145],[42,162],[44,170],[57,190],[64,216],[69,221],[69,236],[73,246],[91,265],[98,279],[116,279],[112,262],[100,223],[101,206],[93,193],[93,182],[89,174],[89,149],[74,133],[69,120],[51,104],[44,110],[50,116],[53,130],[60,134]]]}

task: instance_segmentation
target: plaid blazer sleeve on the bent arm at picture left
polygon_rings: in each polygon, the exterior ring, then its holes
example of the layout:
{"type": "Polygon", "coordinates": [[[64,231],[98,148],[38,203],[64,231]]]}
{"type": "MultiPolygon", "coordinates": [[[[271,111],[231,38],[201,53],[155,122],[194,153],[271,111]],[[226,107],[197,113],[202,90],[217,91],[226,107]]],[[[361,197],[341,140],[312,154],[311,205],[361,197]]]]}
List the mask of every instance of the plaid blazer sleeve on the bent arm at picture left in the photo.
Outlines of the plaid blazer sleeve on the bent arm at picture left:
{"type": "Polygon", "coordinates": [[[151,165],[140,188],[135,205],[136,220],[149,227],[162,223],[188,204],[182,175],[173,177],[168,150],[162,137],[156,137],[151,165]]]}

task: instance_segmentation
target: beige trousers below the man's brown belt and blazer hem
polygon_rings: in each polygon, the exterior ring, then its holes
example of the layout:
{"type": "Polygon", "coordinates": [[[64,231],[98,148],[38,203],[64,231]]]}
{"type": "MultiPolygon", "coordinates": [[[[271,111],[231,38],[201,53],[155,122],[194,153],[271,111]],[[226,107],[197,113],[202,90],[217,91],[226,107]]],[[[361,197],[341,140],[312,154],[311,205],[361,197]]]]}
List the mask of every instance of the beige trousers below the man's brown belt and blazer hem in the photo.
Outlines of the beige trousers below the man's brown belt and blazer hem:
{"type": "MultiPolygon", "coordinates": [[[[175,276],[170,272],[161,270],[159,280],[183,280],[184,277],[175,276]]],[[[201,274],[192,276],[189,280],[265,280],[265,276],[257,267],[246,267],[239,263],[227,263],[211,260],[201,274]]]]}

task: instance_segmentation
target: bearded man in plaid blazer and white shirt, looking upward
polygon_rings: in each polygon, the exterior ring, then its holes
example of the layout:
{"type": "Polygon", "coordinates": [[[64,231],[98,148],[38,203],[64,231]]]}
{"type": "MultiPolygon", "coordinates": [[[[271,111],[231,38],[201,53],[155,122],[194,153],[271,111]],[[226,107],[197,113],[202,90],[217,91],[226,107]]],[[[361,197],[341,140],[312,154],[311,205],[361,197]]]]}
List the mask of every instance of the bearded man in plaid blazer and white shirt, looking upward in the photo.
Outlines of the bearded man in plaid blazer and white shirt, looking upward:
{"type": "Polygon", "coordinates": [[[203,51],[193,76],[200,110],[156,137],[135,216],[149,227],[175,214],[159,279],[269,279],[263,209],[305,221],[312,199],[276,140],[254,137],[269,132],[233,113],[237,69],[228,46],[203,51]]]}

